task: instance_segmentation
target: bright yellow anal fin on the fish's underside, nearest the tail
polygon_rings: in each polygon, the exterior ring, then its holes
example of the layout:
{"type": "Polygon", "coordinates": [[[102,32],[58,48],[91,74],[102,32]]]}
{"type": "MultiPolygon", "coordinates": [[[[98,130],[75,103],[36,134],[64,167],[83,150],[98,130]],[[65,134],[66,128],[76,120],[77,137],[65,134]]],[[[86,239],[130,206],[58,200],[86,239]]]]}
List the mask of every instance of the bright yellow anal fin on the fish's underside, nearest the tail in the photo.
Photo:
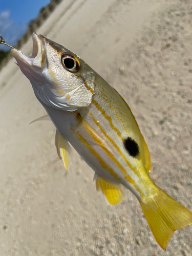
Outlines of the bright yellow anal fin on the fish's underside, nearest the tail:
{"type": "Polygon", "coordinates": [[[124,194],[120,184],[113,184],[110,181],[106,181],[98,177],[96,179],[96,189],[97,191],[100,189],[102,190],[102,193],[111,205],[118,204],[124,199],[124,194]]]}

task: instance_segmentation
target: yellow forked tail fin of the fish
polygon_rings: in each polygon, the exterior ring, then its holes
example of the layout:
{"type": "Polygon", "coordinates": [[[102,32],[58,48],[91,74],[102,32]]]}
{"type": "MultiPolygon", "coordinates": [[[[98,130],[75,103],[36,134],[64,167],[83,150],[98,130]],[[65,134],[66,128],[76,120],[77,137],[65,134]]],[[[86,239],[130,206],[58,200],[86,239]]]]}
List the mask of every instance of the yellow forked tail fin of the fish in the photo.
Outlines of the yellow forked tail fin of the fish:
{"type": "Polygon", "coordinates": [[[156,187],[155,195],[140,201],[157,243],[166,250],[176,229],[192,224],[192,212],[156,187]]]}

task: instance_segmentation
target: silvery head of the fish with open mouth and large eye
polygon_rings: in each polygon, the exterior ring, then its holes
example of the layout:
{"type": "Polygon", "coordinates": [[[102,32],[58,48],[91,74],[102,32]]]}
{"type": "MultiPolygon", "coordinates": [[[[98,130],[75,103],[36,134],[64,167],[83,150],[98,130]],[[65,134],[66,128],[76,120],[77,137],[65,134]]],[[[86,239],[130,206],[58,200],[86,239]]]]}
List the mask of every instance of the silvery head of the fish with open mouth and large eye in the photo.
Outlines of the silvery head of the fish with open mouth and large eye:
{"type": "Polygon", "coordinates": [[[33,33],[33,52],[11,49],[20,70],[30,80],[37,99],[56,109],[88,108],[94,95],[94,71],[62,45],[33,33]]]}

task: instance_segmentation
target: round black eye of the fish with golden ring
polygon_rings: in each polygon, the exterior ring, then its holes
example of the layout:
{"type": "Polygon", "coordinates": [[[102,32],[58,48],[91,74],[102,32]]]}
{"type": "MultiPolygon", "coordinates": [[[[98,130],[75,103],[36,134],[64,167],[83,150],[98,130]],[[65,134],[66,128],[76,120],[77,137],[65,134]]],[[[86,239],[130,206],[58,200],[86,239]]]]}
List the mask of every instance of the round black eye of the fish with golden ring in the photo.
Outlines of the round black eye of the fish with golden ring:
{"type": "Polygon", "coordinates": [[[80,69],[80,63],[78,59],[67,53],[63,53],[61,56],[62,66],[71,73],[76,73],[80,69]]]}

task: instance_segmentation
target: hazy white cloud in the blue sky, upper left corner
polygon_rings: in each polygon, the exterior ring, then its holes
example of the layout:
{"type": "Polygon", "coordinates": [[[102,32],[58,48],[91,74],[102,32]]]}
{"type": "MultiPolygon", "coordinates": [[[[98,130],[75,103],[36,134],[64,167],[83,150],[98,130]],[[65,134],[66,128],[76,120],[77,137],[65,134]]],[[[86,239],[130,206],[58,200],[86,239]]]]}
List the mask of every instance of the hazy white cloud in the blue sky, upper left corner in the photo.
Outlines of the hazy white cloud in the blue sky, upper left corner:
{"type": "MultiPolygon", "coordinates": [[[[10,18],[10,10],[5,10],[0,13],[0,34],[8,45],[14,46],[17,40],[24,35],[27,30],[27,25],[14,24],[14,20],[10,18]]],[[[7,51],[10,48],[5,45],[0,45],[0,50],[7,51]]]]}

